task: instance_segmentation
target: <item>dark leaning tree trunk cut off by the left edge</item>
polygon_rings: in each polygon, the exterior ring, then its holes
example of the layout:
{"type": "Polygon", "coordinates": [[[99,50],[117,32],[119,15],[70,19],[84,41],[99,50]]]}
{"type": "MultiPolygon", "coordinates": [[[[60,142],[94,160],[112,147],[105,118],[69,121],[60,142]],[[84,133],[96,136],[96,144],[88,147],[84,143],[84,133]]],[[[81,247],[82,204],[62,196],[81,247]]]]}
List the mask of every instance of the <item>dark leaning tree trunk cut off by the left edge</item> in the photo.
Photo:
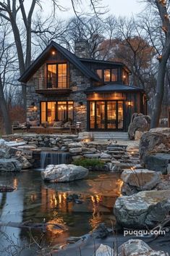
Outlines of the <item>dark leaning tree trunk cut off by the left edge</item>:
{"type": "Polygon", "coordinates": [[[11,119],[9,116],[7,103],[4,99],[4,91],[3,91],[3,87],[2,87],[1,77],[0,77],[0,109],[1,109],[3,120],[4,120],[5,132],[7,134],[11,134],[12,133],[12,123],[11,123],[11,119]]]}

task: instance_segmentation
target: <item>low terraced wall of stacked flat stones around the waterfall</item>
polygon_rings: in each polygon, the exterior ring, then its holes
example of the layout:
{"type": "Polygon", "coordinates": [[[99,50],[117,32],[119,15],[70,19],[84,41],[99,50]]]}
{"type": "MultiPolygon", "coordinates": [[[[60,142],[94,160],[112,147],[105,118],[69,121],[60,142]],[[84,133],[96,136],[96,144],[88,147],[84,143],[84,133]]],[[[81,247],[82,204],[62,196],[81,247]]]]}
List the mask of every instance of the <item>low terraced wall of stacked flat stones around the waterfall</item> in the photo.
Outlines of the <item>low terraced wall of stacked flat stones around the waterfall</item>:
{"type": "Polygon", "coordinates": [[[122,171],[139,164],[138,157],[134,153],[129,154],[126,145],[111,144],[110,141],[82,141],[78,135],[69,134],[13,134],[3,138],[19,143],[22,156],[31,164],[34,162],[33,152],[49,148],[56,152],[69,152],[72,160],[82,157],[101,160],[105,163],[104,170],[122,171]]]}

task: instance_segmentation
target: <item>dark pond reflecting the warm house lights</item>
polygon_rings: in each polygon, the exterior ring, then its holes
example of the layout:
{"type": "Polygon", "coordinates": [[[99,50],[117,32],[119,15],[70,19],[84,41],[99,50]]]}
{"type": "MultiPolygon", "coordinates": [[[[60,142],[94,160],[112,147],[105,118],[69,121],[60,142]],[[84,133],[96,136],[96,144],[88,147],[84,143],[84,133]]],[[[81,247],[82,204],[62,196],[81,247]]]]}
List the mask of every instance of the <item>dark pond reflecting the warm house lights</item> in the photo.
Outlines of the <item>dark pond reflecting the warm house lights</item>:
{"type": "MultiPolygon", "coordinates": [[[[98,223],[111,226],[114,222],[113,207],[119,197],[122,181],[119,174],[90,172],[85,180],[71,183],[44,183],[40,170],[27,170],[21,173],[1,173],[1,183],[13,185],[16,190],[0,194],[1,223],[58,223],[67,228],[61,232],[48,226],[46,244],[63,244],[69,236],[82,236],[93,230],[98,223]],[[78,194],[81,204],[68,202],[69,194],[78,194]]],[[[9,244],[29,244],[30,234],[25,228],[1,226],[1,256],[17,255],[9,252],[9,244]]],[[[33,230],[31,235],[41,239],[41,231],[33,230]]],[[[13,250],[16,250],[14,248],[13,250]]],[[[22,256],[30,255],[28,249],[22,256]]],[[[35,254],[33,254],[35,255],[35,254]]]]}

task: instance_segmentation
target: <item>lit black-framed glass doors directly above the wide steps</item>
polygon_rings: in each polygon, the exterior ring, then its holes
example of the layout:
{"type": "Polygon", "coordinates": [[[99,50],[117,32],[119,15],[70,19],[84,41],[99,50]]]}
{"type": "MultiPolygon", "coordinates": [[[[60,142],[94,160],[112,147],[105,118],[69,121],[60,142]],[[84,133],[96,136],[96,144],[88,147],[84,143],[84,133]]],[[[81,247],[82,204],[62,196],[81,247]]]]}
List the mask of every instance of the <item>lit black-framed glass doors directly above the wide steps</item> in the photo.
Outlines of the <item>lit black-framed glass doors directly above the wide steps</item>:
{"type": "Polygon", "coordinates": [[[90,130],[123,130],[124,102],[123,101],[93,101],[90,104],[90,130]]]}

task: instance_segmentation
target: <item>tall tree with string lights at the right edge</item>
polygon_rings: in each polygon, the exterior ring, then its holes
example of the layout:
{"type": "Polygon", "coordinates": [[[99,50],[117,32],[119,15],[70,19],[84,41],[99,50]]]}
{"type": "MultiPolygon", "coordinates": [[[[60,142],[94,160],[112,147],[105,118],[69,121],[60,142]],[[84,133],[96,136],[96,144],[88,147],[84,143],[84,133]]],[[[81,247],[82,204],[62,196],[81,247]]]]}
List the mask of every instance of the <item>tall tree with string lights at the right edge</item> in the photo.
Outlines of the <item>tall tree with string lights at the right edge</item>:
{"type": "Polygon", "coordinates": [[[148,3],[151,19],[149,22],[144,17],[144,27],[150,41],[158,53],[158,75],[156,81],[156,94],[153,99],[153,113],[151,128],[158,127],[161,116],[161,107],[165,88],[166,66],[170,56],[170,21],[169,1],[166,0],[145,0],[148,3]],[[154,17],[154,20],[153,20],[154,17]]]}

